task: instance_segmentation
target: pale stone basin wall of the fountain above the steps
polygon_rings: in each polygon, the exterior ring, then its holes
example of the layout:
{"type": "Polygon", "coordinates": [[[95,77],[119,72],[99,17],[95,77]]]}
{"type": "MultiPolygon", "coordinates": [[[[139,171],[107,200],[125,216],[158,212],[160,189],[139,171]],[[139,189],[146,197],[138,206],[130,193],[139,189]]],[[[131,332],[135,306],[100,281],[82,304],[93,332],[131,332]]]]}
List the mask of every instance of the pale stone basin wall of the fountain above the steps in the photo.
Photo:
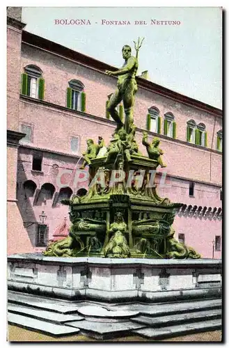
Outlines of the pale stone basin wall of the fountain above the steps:
{"type": "Polygon", "coordinates": [[[8,257],[8,289],[77,301],[150,303],[221,296],[221,260],[8,257]]]}

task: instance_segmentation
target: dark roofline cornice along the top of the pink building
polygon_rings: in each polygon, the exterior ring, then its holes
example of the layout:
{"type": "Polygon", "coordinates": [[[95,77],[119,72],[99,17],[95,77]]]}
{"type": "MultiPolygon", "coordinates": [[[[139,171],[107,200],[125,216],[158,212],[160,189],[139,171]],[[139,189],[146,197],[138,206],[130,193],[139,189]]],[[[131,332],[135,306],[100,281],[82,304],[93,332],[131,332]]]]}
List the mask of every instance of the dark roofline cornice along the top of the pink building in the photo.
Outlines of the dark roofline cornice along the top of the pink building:
{"type": "MultiPolygon", "coordinates": [[[[113,70],[113,71],[118,70],[118,68],[114,68],[113,66],[109,64],[103,63],[101,61],[97,61],[97,59],[95,58],[86,56],[85,54],[81,54],[72,49],[59,45],[56,42],[47,40],[45,38],[41,38],[40,36],[34,35],[33,33],[29,33],[27,31],[22,31],[22,42],[28,43],[40,49],[45,49],[48,52],[61,55],[65,58],[70,58],[72,61],[75,61],[76,63],[80,63],[89,68],[99,70],[100,72],[103,72],[103,73],[105,72],[105,70],[113,70]]],[[[152,81],[142,79],[141,77],[136,77],[136,81],[139,87],[141,88],[145,88],[147,90],[150,90],[151,92],[157,93],[159,95],[163,95],[164,97],[168,97],[182,104],[194,106],[207,113],[212,113],[214,116],[219,116],[219,117],[223,116],[223,112],[221,109],[218,109],[209,104],[205,104],[204,102],[200,102],[199,100],[195,100],[191,97],[187,97],[185,95],[177,93],[163,86],[159,86],[158,84],[155,84],[152,81]]]]}

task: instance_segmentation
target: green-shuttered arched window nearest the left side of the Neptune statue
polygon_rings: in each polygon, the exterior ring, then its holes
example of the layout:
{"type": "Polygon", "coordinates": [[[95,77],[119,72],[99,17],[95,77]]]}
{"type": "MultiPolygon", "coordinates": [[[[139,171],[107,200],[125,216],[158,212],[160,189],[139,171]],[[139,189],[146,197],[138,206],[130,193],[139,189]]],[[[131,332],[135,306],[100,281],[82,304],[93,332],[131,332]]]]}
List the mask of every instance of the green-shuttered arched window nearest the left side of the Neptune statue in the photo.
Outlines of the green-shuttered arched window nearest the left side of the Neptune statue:
{"type": "Polygon", "coordinates": [[[84,92],[84,84],[79,80],[71,80],[68,82],[67,88],[67,107],[78,111],[86,111],[86,93],[84,92]]]}

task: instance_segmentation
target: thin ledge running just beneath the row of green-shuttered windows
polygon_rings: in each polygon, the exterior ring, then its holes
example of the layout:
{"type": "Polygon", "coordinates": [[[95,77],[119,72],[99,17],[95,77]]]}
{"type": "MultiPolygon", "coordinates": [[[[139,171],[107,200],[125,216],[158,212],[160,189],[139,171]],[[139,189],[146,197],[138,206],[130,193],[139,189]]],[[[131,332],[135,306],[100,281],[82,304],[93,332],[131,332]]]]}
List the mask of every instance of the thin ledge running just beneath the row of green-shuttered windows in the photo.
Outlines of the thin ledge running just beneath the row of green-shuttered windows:
{"type": "MultiPolygon", "coordinates": [[[[104,125],[109,124],[110,126],[115,127],[114,122],[112,120],[108,120],[107,118],[102,118],[102,117],[99,117],[99,116],[90,115],[90,113],[84,113],[82,111],[78,111],[78,110],[76,111],[76,110],[73,110],[73,109],[69,109],[66,106],[54,104],[54,103],[51,103],[51,102],[46,102],[45,100],[35,99],[35,98],[29,97],[27,95],[22,95],[21,94],[20,95],[20,99],[25,101],[25,102],[33,102],[34,104],[41,104],[41,105],[44,105],[44,106],[52,107],[53,109],[58,109],[58,110],[61,110],[61,111],[65,111],[65,112],[68,112],[69,114],[72,114],[72,116],[74,116],[74,117],[80,116],[81,118],[83,117],[83,118],[93,119],[93,120],[96,120],[96,122],[100,122],[100,123],[102,123],[104,125]]],[[[186,146],[189,146],[191,148],[197,148],[197,149],[199,149],[201,151],[206,151],[206,152],[213,152],[216,155],[222,156],[222,152],[220,152],[220,151],[217,151],[217,150],[214,150],[214,149],[211,149],[211,148],[204,148],[203,146],[196,145],[196,144],[193,144],[193,143],[188,143],[187,141],[183,141],[183,140],[180,140],[180,139],[174,139],[174,138],[171,138],[170,136],[166,136],[164,134],[153,133],[153,132],[146,131],[145,129],[138,128],[138,127],[136,128],[136,131],[141,132],[141,133],[148,132],[148,134],[150,136],[157,136],[161,140],[166,140],[166,141],[171,142],[171,143],[180,143],[182,145],[186,145],[186,146]]]]}

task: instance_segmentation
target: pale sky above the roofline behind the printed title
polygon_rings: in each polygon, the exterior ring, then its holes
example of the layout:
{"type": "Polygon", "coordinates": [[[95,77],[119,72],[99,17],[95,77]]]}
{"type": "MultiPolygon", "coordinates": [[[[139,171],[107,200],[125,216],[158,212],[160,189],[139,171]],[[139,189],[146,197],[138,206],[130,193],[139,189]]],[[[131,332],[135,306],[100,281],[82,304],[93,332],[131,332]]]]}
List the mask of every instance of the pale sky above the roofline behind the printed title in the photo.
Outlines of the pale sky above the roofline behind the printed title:
{"type": "Polygon", "coordinates": [[[22,22],[26,31],[115,67],[123,65],[123,45],[130,45],[135,55],[134,40],[144,37],[138,74],[148,70],[155,84],[221,109],[221,8],[23,7],[22,22]],[[86,19],[90,24],[61,25],[55,19],[86,19]],[[102,24],[103,19],[131,24],[102,24]]]}

